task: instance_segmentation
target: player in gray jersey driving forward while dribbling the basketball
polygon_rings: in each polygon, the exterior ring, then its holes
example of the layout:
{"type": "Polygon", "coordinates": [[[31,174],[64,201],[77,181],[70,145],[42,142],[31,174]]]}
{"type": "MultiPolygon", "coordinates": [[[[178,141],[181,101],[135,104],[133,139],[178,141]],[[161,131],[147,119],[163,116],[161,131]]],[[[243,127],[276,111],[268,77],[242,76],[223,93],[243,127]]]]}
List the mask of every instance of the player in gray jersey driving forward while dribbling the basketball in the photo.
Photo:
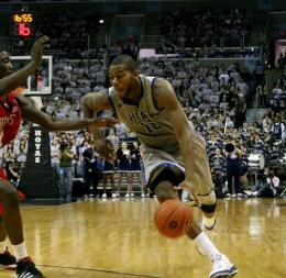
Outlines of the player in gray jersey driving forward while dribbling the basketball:
{"type": "MultiPolygon", "coordinates": [[[[157,200],[177,199],[176,190],[188,190],[202,211],[202,227],[211,229],[216,224],[217,201],[205,141],[188,122],[170,84],[139,75],[128,55],[112,60],[109,77],[112,87],[108,92],[84,97],[84,116],[94,118],[101,110],[113,111],[141,141],[147,186],[157,200]]],[[[106,157],[112,155],[112,145],[99,130],[92,127],[90,132],[97,152],[106,157]]],[[[212,262],[209,278],[228,278],[238,273],[195,222],[187,235],[212,262]]]]}

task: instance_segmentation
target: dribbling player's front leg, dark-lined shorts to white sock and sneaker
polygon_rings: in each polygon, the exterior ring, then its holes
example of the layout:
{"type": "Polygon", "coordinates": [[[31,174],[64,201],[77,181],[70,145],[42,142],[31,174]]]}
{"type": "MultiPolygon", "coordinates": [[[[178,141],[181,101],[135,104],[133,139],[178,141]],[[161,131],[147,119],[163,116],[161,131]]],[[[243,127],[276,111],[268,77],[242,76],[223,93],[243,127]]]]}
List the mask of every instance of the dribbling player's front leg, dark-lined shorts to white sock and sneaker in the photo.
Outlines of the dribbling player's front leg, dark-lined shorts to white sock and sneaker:
{"type": "MultiPolygon", "coordinates": [[[[178,199],[174,186],[177,186],[185,179],[185,173],[174,156],[156,149],[150,149],[150,152],[148,149],[144,149],[143,159],[147,187],[152,192],[156,193],[157,200],[163,202],[167,199],[178,199]]],[[[213,211],[211,211],[210,208],[205,208],[204,214],[212,218],[215,214],[213,207],[211,208],[213,211]]],[[[237,267],[218,251],[198,224],[193,222],[187,235],[200,249],[204,249],[205,254],[207,254],[211,260],[212,269],[210,271],[210,278],[228,278],[238,273],[237,267]]]]}

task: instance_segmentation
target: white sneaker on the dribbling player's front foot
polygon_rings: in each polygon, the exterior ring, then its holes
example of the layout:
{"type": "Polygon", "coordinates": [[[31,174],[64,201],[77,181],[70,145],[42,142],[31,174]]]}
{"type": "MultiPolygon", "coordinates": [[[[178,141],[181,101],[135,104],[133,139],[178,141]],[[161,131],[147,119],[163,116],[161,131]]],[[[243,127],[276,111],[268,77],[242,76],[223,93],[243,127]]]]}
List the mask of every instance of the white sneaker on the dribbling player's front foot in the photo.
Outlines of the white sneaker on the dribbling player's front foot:
{"type": "Polygon", "coordinates": [[[239,270],[230,263],[230,260],[223,255],[218,254],[211,258],[212,268],[209,274],[209,278],[230,278],[233,277],[239,270]]]}

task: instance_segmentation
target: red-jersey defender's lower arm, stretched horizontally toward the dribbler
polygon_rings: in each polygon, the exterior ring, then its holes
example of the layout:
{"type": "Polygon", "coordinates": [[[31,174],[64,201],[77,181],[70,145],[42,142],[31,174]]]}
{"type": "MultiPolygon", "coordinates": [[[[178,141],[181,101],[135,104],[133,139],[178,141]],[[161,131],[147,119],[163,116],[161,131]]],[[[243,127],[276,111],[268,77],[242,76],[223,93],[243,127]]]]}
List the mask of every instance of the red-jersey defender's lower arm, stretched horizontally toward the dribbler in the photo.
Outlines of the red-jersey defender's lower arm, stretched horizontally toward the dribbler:
{"type": "Polygon", "coordinates": [[[43,126],[47,131],[73,131],[92,125],[102,127],[106,126],[107,122],[109,123],[109,120],[102,121],[101,119],[56,119],[35,108],[24,96],[19,96],[18,101],[21,107],[23,118],[43,126]]]}

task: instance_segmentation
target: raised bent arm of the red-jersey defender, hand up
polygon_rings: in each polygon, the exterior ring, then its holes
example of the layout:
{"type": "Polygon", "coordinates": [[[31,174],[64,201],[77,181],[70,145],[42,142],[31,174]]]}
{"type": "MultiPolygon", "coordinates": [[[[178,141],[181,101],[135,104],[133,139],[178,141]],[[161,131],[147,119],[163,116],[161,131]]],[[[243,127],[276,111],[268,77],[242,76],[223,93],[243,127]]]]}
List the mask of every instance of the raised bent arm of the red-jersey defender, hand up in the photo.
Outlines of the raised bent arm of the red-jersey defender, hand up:
{"type": "MultiPolygon", "coordinates": [[[[42,36],[35,41],[31,49],[31,62],[25,67],[0,79],[0,96],[8,94],[25,82],[26,78],[41,66],[43,51],[47,46],[47,36],[42,36]]],[[[9,56],[7,58],[9,59],[9,56]]]]}

